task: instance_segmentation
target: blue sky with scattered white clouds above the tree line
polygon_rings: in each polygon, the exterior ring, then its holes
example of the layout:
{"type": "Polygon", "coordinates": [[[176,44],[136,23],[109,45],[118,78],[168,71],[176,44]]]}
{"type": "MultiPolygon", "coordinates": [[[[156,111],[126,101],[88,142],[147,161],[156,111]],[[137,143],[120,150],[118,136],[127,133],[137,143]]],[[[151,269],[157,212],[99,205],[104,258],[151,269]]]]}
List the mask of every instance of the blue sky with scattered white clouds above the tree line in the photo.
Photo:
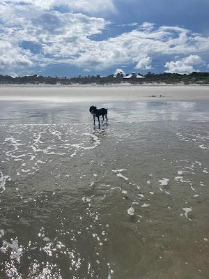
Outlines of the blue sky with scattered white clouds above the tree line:
{"type": "Polygon", "coordinates": [[[209,72],[209,0],[0,0],[0,75],[209,72]]]}

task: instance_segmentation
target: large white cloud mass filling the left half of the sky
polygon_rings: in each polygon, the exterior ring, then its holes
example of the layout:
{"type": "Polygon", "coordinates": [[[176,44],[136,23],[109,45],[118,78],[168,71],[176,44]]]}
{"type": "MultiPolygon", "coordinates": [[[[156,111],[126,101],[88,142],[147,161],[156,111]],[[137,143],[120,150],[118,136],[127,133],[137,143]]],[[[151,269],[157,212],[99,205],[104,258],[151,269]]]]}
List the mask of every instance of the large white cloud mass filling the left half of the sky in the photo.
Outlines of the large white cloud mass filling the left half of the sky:
{"type": "Polygon", "coordinates": [[[59,13],[30,5],[11,8],[3,1],[0,16],[1,73],[31,67],[33,62],[36,66],[59,61],[70,63],[85,48],[86,38],[100,33],[109,24],[103,18],[82,13],[59,13]],[[33,54],[22,47],[25,42],[36,43],[40,53],[33,54]]]}

